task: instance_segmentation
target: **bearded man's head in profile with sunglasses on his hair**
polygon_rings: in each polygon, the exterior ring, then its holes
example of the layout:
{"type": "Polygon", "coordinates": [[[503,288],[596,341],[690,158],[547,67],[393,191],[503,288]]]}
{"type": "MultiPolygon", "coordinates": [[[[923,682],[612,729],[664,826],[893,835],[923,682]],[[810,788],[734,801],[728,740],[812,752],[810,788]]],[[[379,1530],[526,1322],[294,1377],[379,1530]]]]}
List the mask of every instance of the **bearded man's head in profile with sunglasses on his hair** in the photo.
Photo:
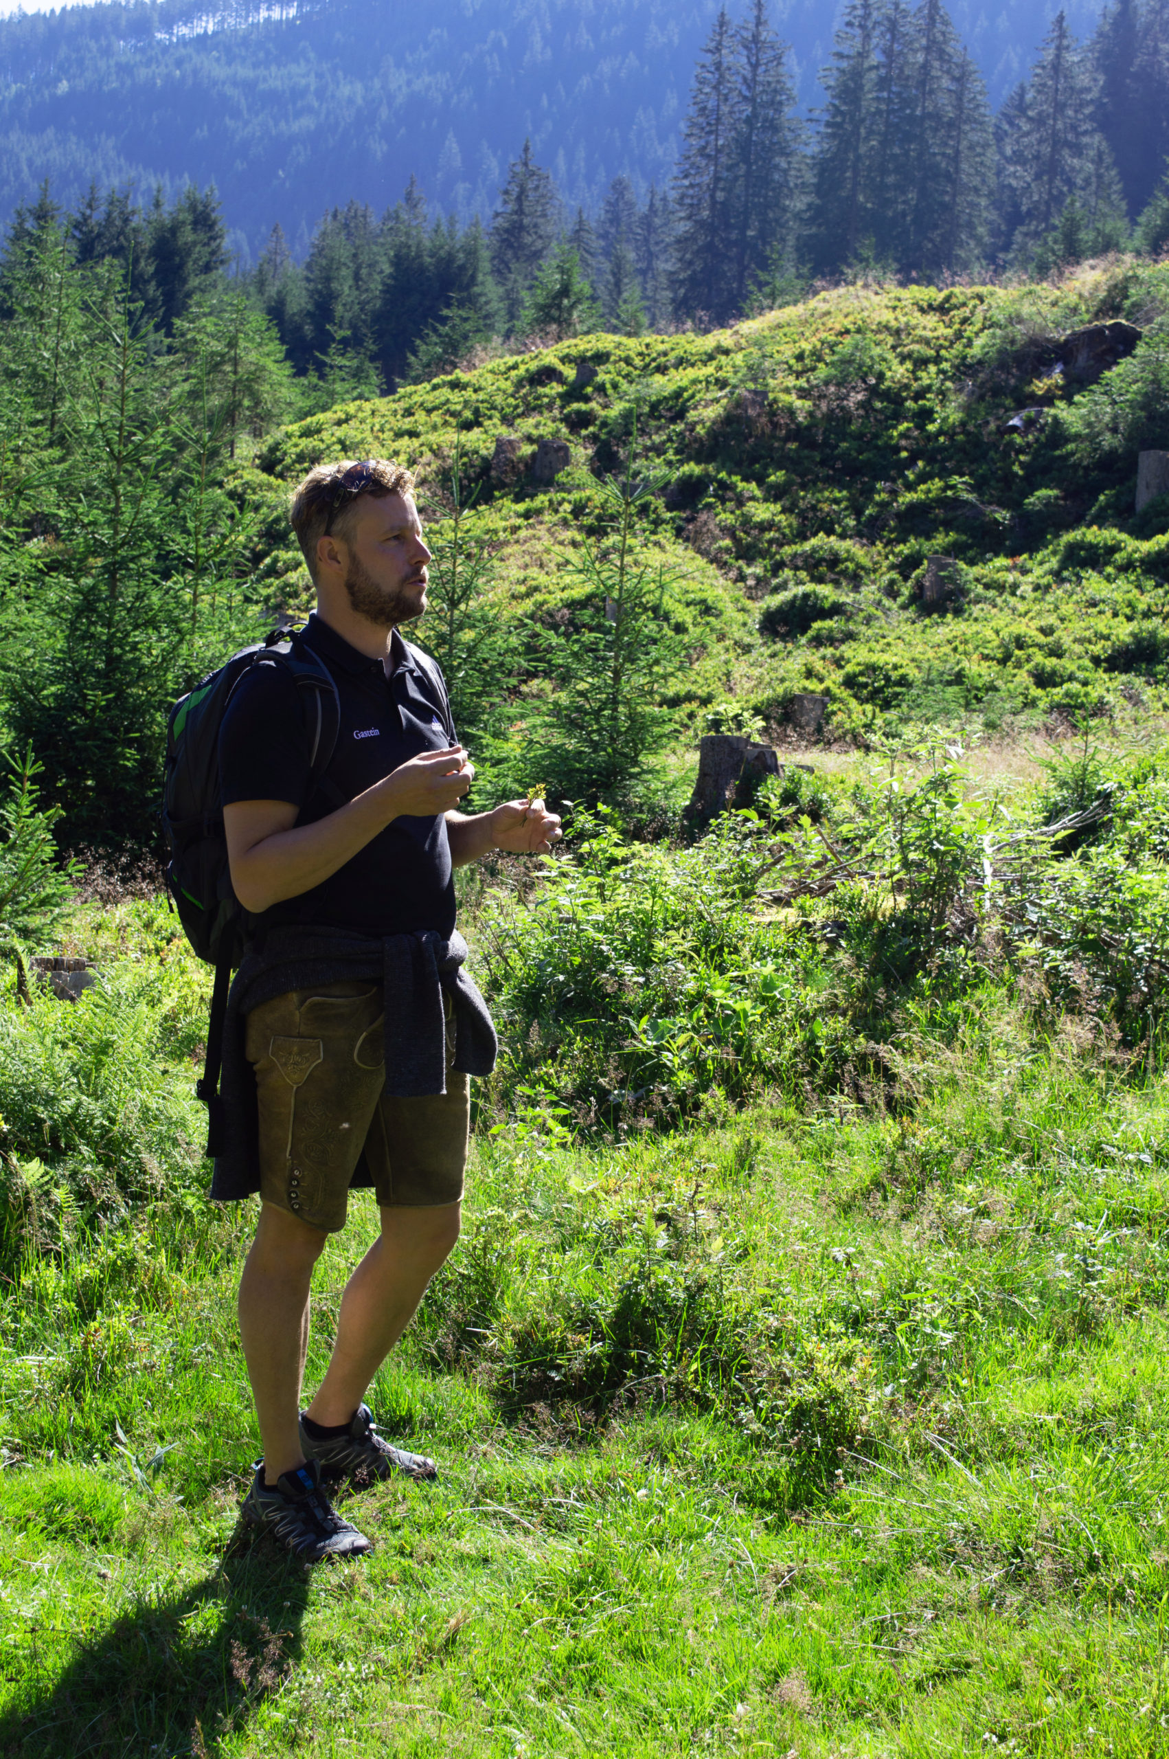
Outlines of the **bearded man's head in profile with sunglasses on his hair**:
{"type": "Polygon", "coordinates": [[[290,517],[322,610],[348,605],[378,628],[422,616],[431,552],[401,464],[318,464],[292,496],[290,517]]]}

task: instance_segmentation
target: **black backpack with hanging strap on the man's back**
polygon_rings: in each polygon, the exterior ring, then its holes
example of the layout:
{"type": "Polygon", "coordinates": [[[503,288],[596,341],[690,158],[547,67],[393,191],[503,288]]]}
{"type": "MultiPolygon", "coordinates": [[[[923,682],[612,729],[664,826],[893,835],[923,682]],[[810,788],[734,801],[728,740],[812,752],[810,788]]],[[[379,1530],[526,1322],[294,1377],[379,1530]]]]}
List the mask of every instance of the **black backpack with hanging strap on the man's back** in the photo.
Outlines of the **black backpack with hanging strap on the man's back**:
{"type": "Polygon", "coordinates": [[[162,786],[162,830],[167,841],[167,890],[186,939],[214,966],[207,1055],[195,1094],[209,1112],[207,1154],[221,1152],[218,1096],[223,1059],[223,1022],[232,967],[243,950],[244,911],[232,892],[220,799],[220,726],[236,686],[255,665],[283,665],[302,693],[309,734],[309,769],[320,783],[332,758],[341,725],[341,698],[323,660],[281,628],[255,647],[232,654],[171,709],[167,763],[162,786]]]}

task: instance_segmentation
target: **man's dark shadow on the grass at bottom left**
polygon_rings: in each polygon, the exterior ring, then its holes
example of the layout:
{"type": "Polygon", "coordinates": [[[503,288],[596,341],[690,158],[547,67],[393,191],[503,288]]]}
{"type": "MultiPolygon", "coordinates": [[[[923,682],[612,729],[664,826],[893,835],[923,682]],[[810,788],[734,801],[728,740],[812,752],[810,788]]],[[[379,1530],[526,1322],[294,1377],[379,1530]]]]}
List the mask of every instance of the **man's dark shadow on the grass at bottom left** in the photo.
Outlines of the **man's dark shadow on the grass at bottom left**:
{"type": "MultiPolygon", "coordinates": [[[[311,1567],[237,1529],[223,1562],[181,1594],[142,1595],[63,1673],[0,1717],[0,1759],[209,1759],[299,1659],[311,1567]]],[[[318,1566],[320,1567],[320,1566],[318,1566]]]]}

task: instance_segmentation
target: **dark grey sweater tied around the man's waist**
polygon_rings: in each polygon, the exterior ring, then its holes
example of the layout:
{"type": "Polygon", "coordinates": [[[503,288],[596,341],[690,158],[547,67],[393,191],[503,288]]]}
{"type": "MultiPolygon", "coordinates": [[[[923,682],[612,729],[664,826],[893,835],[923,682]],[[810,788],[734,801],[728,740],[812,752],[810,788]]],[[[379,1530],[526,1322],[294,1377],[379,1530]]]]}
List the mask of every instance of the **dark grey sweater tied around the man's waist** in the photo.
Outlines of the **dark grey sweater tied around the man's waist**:
{"type": "MultiPolygon", "coordinates": [[[[227,999],[223,1024],[223,1152],[214,1161],[211,1196],[232,1203],[260,1189],[257,1089],[244,1048],[244,1018],[288,990],[343,980],[380,980],[385,997],[385,1092],[420,1099],[447,1092],[447,1020],[443,990],[455,1015],[454,1068],[490,1075],[496,1029],[475,982],[462,969],[468,943],[427,929],[371,939],[346,929],[271,929],[244,953],[227,999]]],[[[364,1157],[353,1186],[373,1184],[364,1157]]]]}

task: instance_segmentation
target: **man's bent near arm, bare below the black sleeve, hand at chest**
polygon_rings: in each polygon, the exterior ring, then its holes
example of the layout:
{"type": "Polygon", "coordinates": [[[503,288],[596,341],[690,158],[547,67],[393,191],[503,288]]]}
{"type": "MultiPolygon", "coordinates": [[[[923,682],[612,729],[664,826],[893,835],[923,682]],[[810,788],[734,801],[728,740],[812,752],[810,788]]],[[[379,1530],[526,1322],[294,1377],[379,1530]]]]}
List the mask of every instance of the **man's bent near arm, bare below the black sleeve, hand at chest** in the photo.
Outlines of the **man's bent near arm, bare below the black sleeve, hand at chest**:
{"type": "Polygon", "coordinates": [[[299,807],[287,800],[225,806],[223,830],[236,897],[253,915],[287,897],[301,897],[345,867],[392,820],[434,818],[450,811],[473,779],[466,751],[452,746],[410,758],[315,825],[297,825],[299,807]]]}

